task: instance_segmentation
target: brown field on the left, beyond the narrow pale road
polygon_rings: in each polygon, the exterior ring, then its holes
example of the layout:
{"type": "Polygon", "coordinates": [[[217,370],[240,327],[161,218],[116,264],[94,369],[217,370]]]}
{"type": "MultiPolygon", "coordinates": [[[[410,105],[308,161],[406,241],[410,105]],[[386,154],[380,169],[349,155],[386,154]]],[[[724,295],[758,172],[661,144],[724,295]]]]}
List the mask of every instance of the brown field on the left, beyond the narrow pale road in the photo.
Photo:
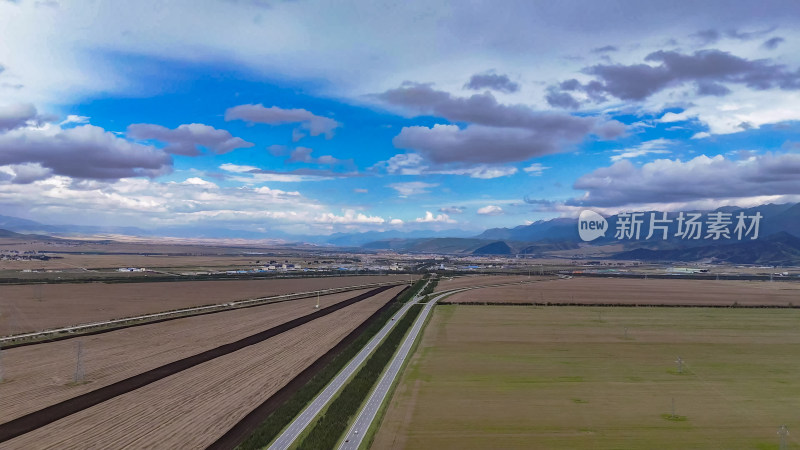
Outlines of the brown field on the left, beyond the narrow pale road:
{"type": "MultiPolygon", "coordinates": [[[[407,279],[407,278],[406,278],[407,279]]],[[[0,336],[190,306],[403,280],[399,275],[0,286],[0,336]]]]}

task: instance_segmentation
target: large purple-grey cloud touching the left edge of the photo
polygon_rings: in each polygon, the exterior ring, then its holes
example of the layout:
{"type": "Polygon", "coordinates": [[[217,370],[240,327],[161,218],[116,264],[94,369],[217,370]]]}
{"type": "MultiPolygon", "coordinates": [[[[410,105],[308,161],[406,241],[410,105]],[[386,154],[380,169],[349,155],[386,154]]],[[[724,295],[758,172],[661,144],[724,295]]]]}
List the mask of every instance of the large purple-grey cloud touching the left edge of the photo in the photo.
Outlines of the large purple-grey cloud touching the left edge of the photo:
{"type": "Polygon", "coordinates": [[[54,175],[119,179],[172,170],[169,155],[93,125],[25,127],[0,134],[0,165],[38,164],[54,175]]]}

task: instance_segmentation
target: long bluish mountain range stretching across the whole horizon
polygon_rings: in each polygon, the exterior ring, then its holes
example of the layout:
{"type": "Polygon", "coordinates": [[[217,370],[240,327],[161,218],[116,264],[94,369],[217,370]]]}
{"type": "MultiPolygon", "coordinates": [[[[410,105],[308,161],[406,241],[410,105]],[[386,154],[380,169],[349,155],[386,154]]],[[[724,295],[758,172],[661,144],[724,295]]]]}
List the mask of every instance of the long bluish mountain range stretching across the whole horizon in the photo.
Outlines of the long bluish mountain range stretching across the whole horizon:
{"type": "MultiPolygon", "coordinates": [[[[614,249],[608,257],[647,261],[722,261],[737,264],[800,264],[800,203],[767,204],[753,208],[723,207],[713,211],[687,211],[708,215],[712,212],[741,213],[762,216],[759,237],[752,240],[682,239],[670,232],[666,239],[617,239],[615,230],[620,215],[606,217],[604,236],[583,242],[578,232],[577,218],[540,220],[513,228],[492,228],[478,235],[463,230],[443,231],[371,231],[365,233],[336,233],[329,236],[299,236],[278,230],[255,231],[228,228],[164,228],[144,230],[136,227],[103,227],[79,225],[45,225],[32,220],[0,216],[0,229],[16,233],[70,235],[120,234],[139,237],[193,237],[271,239],[285,244],[361,248],[367,251],[391,250],[409,253],[439,253],[456,255],[513,255],[576,256],[579,250],[614,249]],[[575,252],[571,252],[575,251],[575,252]],[[558,252],[558,253],[554,253],[558,252]]],[[[649,218],[651,211],[642,217],[649,218]]],[[[661,213],[656,217],[661,217],[661,213]]],[[[677,213],[667,217],[675,220],[677,213]]],[[[734,219],[735,223],[735,219],[734,219]]],[[[732,229],[732,227],[731,227],[732,229]]],[[[584,252],[585,254],[586,252],[584,252]]],[[[591,253],[591,252],[589,252],[591,253]]]]}

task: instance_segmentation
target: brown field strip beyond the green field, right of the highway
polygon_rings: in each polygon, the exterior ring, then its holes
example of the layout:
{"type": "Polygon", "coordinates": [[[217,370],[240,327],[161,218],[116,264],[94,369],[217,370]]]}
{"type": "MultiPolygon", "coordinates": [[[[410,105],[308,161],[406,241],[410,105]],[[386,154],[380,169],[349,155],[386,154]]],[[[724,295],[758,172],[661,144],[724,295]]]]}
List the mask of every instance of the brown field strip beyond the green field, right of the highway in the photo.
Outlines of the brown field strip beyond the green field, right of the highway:
{"type": "MultiPolygon", "coordinates": [[[[440,283],[442,286],[444,283],[440,283]]],[[[800,306],[800,283],[571,278],[460,292],[446,302],[575,305],[800,306]]]]}

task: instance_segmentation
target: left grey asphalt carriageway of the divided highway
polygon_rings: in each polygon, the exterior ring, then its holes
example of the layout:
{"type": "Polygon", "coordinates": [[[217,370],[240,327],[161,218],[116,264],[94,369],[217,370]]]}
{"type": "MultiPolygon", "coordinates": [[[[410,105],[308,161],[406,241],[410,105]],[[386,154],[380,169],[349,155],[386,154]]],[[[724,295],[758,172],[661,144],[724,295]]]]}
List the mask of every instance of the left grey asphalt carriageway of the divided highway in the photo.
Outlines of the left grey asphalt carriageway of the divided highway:
{"type": "Polygon", "coordinates": [[[341,388],[347,383],[350,377],[361,367],[361,364],[366,361],[370,354],[372,354],[372,350],[386,337],[387,334],[394,328],[394,325],[400,320],[403,315],[405,315],[406,311],[411,307],[411,305],[417,303],[419,301],[419,297],[414,297],[412,300],[406,302],[402,308],[400,308],[394,316],[392,316],[392,320],[388,321],[386,325],[381,328],[380,331],[369,341],[369,343],[361,349],[360,352],[353,358],[350,363],[336,375],[336,378],[331,381],[327,387],[319,394],[317,397],[311,402],[308,407],[306,407],[303,412],[297,416],[294,421],[289,424],[289,427],[286,428],[283,433],[278,436],[272,445],[269,446],[269,450],[284,450],[289,448],[290,445],[297,439],[300,433],[314,420],[315,417],[322,411],[325,405],[336,396],[336,393],[341,390],[341,388]]]}

